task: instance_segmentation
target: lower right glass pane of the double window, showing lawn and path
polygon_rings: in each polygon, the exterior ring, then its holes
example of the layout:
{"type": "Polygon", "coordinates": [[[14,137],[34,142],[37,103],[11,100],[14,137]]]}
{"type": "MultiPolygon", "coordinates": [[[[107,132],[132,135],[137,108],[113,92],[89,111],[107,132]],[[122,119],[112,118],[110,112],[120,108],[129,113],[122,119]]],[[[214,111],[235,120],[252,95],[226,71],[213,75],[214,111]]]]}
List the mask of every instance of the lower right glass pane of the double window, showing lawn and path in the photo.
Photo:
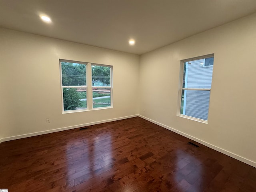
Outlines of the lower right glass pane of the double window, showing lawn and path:
{"type": "Polygon", "coordinates": [[[111,88],[92,88],[93,108],[111,106],[111,88]]]}

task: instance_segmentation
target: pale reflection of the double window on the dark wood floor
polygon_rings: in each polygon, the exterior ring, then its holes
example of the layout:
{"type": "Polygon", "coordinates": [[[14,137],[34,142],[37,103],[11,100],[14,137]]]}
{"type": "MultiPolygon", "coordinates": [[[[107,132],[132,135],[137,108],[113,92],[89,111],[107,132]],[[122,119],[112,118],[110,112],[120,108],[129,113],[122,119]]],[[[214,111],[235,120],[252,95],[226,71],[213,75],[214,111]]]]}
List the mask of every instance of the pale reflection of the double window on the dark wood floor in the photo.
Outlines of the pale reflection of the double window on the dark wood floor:
{"type": "MultiPolygon", "coordinates": [[[[66,144],[66,156],[69,159],[66,180],[70,182],[75,179],[74,185],[102,174],[104,172],[101,166],[103,161],[103,166],[113,163],[111,134],[102,131],[93,139],[91,136],[88,136],[90,139],[86,137],[86,134],[90,134],[90,132],[81,134],[85,134],[83,139],[73,138],[66,144]],[[103,160],[102,157],[106,156],[108,159],[103,160]],[[82,177],[81,180],[79,180],[79,176],[82,177]]],[[[89,185],[89,182],[86,183],[89,185]]]]}

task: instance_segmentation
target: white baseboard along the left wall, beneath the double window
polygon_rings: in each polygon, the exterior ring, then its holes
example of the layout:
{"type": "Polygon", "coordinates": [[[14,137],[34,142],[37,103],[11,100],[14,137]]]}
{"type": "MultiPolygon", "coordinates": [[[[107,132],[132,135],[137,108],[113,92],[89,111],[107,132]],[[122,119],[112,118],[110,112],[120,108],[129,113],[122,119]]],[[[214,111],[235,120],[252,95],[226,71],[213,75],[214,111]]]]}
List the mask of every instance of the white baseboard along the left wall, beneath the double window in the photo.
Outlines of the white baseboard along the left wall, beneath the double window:
{"type": "Polygon", "coordinates": [[[106,122],[112,122],[112,121],[117,121],[117,120],[122,120],[122,119],[128,119],[128,118],[137,117],[137,116],[138,115],[136,114],[136,115],[131,115],[131,116],[125,116],[125,117],[120,117],[120,118],[102,120],[102,121],[91,122],[91,123],[80,124],[80,125],[69,126],[69,127],[63,127],[63,128],[52,129],[52,130],[47,130],[47,131],[40,131],[40,132],[34,132],[34,133],[29,133],[29,134],[6,137],[6,138],[1,138],[0,143],[4,142],[4,141],[11,141],[11,140],[15,140],[15,139],[22,139],[22,138],[26,138],[26,137],[32,137],[32,136],[48,134],[48,133],[54,133],[54,132],[59,132],[59,131],[64,131],[64,130],[69,130],[69,129],[75,129],[75,128],[84,127],[84,126],[90,126],[90,125],[96,125],[96,124],[100,124],[100,123],[106,123],[106,122]]]}

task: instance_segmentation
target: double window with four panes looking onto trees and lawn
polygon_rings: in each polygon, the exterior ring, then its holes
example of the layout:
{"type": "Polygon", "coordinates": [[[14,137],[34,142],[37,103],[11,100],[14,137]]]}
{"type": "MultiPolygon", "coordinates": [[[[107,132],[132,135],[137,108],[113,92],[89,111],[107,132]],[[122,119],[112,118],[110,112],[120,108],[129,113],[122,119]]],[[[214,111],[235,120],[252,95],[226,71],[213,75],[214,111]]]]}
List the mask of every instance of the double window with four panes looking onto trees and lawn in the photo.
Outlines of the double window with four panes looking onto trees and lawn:
{"type": "Polygon", "coordinates": [[[112,107],[112,66],[60,60],[60,72],[62,112],[112,107]]]}

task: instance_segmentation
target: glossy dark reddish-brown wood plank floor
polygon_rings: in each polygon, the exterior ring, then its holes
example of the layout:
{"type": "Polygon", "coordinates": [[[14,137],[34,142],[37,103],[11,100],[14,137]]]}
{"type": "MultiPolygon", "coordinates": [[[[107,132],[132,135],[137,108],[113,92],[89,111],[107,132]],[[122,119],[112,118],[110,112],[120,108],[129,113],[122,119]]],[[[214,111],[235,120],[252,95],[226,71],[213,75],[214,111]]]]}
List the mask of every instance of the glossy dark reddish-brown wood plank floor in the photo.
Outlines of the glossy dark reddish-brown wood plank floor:
{"type": "Polygon", "coordinates": [[[142,118],[2,142],[9,192],[255,192],[256,168],[142,118]]]}

